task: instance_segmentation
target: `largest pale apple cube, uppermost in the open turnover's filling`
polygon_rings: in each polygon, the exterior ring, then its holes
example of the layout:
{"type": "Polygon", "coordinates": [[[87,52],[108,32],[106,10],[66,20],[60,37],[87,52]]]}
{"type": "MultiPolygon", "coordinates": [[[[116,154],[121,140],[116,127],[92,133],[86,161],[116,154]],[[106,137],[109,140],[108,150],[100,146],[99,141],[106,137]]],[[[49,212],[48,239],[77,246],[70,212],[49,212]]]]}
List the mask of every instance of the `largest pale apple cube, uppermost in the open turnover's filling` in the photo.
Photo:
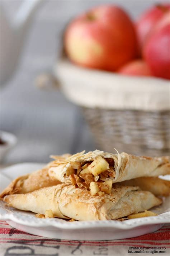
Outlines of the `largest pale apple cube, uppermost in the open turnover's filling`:
{"type": "Polygon", "coordinates": [[[109,164],[102,156],[99,155],[87,168],[94,176],[96,176],[108,169],[109,164]]]}

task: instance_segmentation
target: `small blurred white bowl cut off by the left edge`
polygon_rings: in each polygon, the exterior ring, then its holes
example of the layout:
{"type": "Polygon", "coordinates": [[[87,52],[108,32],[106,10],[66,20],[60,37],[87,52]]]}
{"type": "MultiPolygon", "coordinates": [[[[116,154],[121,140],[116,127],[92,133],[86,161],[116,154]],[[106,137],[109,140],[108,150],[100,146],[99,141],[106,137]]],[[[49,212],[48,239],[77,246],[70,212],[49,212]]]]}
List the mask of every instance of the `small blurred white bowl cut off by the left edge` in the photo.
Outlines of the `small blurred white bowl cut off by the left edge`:
{"type": "Polygon", "coordinates": [[[9,150],[16,145],[17,138],[14,134],[0,131],[0,138],[4,144],[0,144],[0,162],[2,162],[9,150]]]}

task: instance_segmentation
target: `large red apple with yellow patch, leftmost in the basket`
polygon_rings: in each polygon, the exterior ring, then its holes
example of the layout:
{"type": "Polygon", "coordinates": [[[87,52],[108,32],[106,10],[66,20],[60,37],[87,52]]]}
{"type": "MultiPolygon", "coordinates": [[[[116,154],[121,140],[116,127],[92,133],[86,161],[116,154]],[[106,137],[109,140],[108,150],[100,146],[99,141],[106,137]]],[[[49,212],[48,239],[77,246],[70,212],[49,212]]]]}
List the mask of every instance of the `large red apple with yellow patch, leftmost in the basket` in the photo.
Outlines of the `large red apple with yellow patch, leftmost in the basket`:
{"type": "Polygon", "coordinates": [[[117,6],[89,10],[70,23],[65,49],[72,62],[115,71],[136,54],[136,35],[128,15],[117,6]]]}

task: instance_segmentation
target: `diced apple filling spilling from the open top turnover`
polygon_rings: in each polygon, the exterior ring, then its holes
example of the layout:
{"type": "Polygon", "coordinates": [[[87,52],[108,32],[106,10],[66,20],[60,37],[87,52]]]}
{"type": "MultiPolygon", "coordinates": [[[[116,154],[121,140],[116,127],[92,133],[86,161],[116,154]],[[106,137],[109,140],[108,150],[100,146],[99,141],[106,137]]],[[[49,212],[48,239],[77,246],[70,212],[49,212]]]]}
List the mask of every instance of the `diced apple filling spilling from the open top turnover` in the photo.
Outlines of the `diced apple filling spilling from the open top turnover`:
{"type": "Polygon", "coordinates": [[[89,189],[91,195],[110,194],[112,191],[112,180],[102,180],[108,177],[115,177],[113,168],[113,159],[104,159],[102,156],[97,156],[93,162],[71,162],[70,167],[67,168],[66,176],[69,176],[72,185],[89,189]]]}

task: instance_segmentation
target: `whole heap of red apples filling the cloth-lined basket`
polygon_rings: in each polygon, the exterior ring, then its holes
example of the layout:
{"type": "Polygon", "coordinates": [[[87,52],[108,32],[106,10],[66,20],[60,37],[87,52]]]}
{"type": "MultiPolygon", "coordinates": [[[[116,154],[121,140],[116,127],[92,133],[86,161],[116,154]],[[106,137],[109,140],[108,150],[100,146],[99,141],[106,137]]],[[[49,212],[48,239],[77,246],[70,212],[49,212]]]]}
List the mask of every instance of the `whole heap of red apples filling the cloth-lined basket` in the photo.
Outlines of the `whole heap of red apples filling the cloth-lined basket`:
{"type": "Polygon", "coordinates": [[[82,67],[170,79],[170,5],[155,5],[133,23],[118,6],[98,6],[75,18],[65,49],[82,67]]]}

